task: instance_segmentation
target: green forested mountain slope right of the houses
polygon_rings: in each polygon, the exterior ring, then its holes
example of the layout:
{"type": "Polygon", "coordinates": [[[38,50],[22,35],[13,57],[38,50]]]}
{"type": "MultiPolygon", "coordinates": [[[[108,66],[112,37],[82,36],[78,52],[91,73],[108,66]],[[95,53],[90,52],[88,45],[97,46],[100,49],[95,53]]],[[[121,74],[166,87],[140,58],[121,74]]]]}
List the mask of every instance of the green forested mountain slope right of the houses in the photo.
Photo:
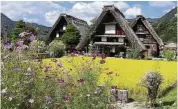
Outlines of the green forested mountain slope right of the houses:
{"type": "Polygon", "coordinates": [[[153,27],[164,42],[177,42],[177,7],[153,23],[153,27]]]}

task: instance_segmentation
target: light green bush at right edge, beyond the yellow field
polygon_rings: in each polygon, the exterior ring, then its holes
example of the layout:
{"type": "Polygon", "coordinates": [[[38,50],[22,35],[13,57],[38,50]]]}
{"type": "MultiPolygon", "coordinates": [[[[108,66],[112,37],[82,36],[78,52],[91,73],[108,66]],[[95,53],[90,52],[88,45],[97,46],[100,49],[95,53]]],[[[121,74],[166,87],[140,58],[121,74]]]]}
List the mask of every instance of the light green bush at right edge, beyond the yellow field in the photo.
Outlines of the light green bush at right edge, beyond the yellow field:
{"type": "Polygon", "coordinates": [[[163,51],[163,57],[168,59],[169,61],[175,60],[176,53],[173,50],[164,50],[163,51]]]}

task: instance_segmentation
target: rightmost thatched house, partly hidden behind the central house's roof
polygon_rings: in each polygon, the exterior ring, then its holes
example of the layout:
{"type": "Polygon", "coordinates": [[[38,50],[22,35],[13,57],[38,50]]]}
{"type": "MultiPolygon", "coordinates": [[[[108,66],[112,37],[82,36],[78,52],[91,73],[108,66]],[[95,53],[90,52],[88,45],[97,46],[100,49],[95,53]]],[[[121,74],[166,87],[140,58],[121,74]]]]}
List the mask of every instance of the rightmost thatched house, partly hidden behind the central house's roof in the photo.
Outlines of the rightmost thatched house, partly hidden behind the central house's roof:
{"type": "Polygon", "coordinates": [[[147,49],[144,55],[159,56],[160,51],[163,50],[164,43],[146,18],[138,15],[136,20],[131,23],[131,27],[147,49]]]}

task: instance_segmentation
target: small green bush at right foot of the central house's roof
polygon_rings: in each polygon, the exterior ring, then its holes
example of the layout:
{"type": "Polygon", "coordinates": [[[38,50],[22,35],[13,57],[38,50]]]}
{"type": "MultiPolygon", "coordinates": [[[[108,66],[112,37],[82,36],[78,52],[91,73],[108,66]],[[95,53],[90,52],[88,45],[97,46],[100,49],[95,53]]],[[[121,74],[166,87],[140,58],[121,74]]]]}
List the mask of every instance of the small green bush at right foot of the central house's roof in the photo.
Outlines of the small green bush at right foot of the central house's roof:
{"type": "Polygon", "coordinates": [[[140,57],[140,50],[139,49],[132,49],[128,53],[128,58],[138,59],[139,57],[140,57]]]}

